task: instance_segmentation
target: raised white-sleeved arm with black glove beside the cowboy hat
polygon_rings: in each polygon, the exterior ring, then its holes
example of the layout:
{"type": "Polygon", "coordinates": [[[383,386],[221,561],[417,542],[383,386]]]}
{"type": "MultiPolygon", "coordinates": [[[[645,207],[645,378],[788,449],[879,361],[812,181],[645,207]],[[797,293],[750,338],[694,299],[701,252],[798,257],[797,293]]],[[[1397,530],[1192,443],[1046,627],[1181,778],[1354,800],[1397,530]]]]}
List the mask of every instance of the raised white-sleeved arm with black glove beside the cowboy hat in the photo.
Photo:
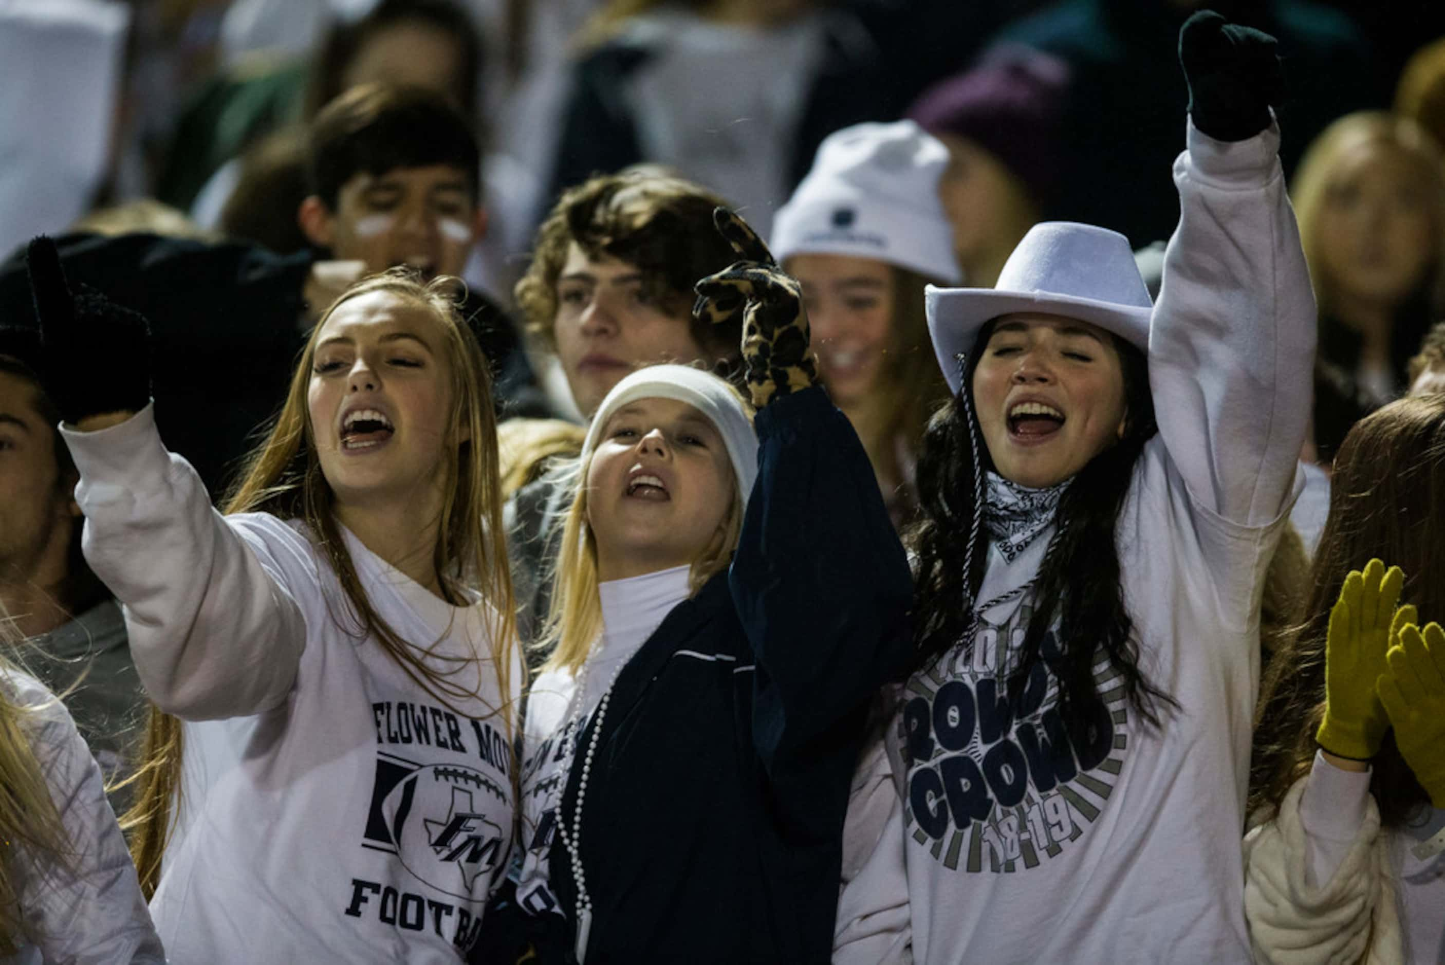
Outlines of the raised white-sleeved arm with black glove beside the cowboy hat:
{"type": "Polygon", "coordinates": [[[1181,32],[1191,88],[1175,162],[1179,227],[1149,344],[1159,433],[1194,498],[1241,526],[1293,494],[1309,422],[1315,299],[1269,104],[1272,38],[1199,13],[1181,32]]]}

